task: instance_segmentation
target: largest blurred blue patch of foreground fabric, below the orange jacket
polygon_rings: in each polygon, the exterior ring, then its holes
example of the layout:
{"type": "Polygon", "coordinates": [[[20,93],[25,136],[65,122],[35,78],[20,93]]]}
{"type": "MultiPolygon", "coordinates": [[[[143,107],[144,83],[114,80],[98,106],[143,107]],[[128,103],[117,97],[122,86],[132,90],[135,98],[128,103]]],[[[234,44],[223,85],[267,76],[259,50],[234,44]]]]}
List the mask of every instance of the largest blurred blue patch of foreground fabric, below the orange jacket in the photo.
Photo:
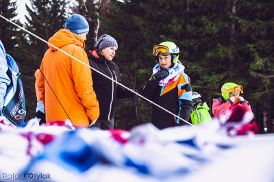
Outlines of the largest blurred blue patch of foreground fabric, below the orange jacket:
{"type": "Polygon", "coordinates": [[[45,146],[44,153],[38,155],[32,163],[43,160],[52,161],[68,171],[84,172],[95,165],[99,158],[95,148],[88,146],[77,131],[68,131],[45,146]]]}

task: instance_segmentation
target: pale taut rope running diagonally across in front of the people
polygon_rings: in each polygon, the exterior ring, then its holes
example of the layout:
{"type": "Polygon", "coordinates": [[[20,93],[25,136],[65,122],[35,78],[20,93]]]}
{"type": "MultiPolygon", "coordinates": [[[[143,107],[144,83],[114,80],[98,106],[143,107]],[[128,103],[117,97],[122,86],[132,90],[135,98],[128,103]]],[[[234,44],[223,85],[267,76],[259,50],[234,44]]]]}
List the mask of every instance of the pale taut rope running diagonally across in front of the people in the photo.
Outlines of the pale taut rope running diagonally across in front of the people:
{"type": "MultiPolygon", "coordinates": [[[[5,19],[5,21],[8,21],[9,23],[12,23],[12,25],[15,25],[16,27],[22,29],[23,31],[26,31],[28,34],[30,34],[30,35],[32,35],[32,36],[38,38],[38,39],[41,40],[42,42],[45,42],[46,44],[51,45],[51,46],[54,47],[55,49],[58,49],[59,51],[61,51],[61,52],[64,53],[65,55],[68,55],[69,57],[73,58],[73,60],[76,60],[77,62],[79,62],[79,63],[81,63],[81,64],[84,64],[84,66],[88,66],[90,69],[92,69],[92,70],[96,71],[97,73],[103,75],[104,77],[106,77],[106,78],[108,78],[108,79],[110,79],[110,80],[116,82],[116,83],[119,84],[120,86],[123,86],[123,88],[126,88],[126,89],[129,90],[130,92],[134,92],[134,91],[131,90],[130,88],[127,88],[127,86],[124,86],[122,83],[119,83],[118,81],[116,81],[116,80],[114,80],[114,79],[108,77],[107,75],[104,75],[103,73],[99,72],[99,70],[96,70],[95,68],[92,68],[92,67],[89,66],[88,64],[85,64],[85,63],[82,62],[81,60],[77,59],[76,57],[73,57],[73,55],[70,55],[69,53],[66,53],[66,52],[63,51],[62,49],[59,49],[58,47],[55,47],[55,45],[53,45],[53,44],[47,42],[46,40],[40,38],[39,36],[36,36],[36,35],[33,34],[32,32],[30,32],[30,31],[28,31],[27,29],[25,29],[25,28],[23,28],[23,27],[17,25],[16,23],[10,21],[8,18],[5,18],[5,17],[2,16],[1,14],[0,14],[0,17],[3,18],[3,19],[5,19]]],[[[137,94],[137,95],[140,96],[142,99],[145,99],[145,100],[148,101],[149,103],[152,103],[153,105],[156,105],[157,107],[163,109],[165,112],[168,112],[169,114],[175,116],[176,118],[179,118],[179,120],[182,120],[182,121],[186,122],[188,125],[192,125],[190,122],[188,122],[188,121],[184,120],[183,118],[180,118],[179,116],[173,114],[172,112],[170,112],[169,110],[165,109],[164,107],[162,107],[162,106],[160,106],[160,105],[154,103],[153,101],[150,101],[149,99],[145,98],[145,96],[142,96],[142,95],[138,94],[137,92],[134,92],[134,94],[137,94]]],[[[194,126],[194,125],[192,125],[192,126],[194,126]]]]}

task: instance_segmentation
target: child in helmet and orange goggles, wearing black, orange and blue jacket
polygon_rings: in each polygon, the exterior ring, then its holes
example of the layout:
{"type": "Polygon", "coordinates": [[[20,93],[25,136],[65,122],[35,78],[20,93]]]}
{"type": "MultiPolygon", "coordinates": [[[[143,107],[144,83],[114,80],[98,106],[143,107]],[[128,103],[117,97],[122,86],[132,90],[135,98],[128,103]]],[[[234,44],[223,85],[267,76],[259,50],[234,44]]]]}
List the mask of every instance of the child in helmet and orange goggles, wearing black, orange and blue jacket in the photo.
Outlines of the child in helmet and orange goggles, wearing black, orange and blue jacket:
{"type": "Polygon", "coordinates": [[[158,129],[186,125],[193,105],[192,90],[184,66],[178,60],[179,48],[173,42],[162,42],[154,47],[153,55],[158,64],[141,94],[174,115],[152,105],[151,123],[158,129]]]}

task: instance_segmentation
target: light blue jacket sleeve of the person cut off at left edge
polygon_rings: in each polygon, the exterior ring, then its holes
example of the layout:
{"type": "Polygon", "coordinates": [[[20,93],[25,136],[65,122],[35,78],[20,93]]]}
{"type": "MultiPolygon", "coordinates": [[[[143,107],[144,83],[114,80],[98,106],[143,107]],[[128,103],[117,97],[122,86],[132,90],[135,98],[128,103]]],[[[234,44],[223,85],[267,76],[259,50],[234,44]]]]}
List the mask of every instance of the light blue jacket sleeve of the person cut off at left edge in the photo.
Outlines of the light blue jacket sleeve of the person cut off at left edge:
{"type": "Polygon", "coordinates": [[[3,109],[3,101],[7,86],[10,85],[10,78],[7,75],[8,63],[6,60],[5,48],[0,40],[0,116],[3,109]]]}

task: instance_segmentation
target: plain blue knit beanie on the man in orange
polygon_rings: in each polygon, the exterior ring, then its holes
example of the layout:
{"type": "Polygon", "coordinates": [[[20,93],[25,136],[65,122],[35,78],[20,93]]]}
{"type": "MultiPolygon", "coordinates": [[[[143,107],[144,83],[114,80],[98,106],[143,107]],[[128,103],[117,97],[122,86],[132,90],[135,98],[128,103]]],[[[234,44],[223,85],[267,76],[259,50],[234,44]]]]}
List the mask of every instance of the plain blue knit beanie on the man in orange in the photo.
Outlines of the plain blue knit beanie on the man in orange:
{"type": "Polygon", "coordinates": [[[73,14],[66,19],[65,29],[69,29],[75,34],[83,34],[90,30],[86,18],[79,14],[73,14]]]}

